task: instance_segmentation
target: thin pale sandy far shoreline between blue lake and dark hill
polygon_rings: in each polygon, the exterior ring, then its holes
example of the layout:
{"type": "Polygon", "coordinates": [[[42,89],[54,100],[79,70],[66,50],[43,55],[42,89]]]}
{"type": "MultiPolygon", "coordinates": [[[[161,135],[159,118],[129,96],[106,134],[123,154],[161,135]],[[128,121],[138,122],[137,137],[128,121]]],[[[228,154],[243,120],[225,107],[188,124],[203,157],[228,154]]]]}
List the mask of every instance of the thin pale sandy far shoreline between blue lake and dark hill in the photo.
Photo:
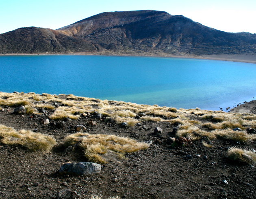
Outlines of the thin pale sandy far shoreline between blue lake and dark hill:
{"type": "Polygon", "coordinates": [[[157,55],[157,54],[127,54],[127,53],[111,53],[111,52],[77,52],[77,53],[6,53],[0,56],[27,56],[27,55],[93,55],[93,56],[134,56],[134,57],[156,57],[156,58],[189,58],[189,59],[202,59],[202,60],[219,60],[230,62],[244,62],[256,64],[256,56],[253,55],[202,55],[202,56],[189,56],[189,55],[157,55]]]}

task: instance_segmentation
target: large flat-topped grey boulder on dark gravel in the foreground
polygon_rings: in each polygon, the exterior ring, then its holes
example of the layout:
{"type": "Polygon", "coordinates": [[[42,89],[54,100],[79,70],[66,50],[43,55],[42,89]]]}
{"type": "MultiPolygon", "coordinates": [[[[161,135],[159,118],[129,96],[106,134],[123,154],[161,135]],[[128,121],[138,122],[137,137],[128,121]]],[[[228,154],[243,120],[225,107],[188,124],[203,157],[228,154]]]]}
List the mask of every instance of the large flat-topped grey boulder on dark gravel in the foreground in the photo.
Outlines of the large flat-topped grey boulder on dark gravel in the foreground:
{"type": "Polygon", "coordinates": [[[100,174],[101,165],[96,163],[64,163],[59,174],[95,175],[100,174]]]}

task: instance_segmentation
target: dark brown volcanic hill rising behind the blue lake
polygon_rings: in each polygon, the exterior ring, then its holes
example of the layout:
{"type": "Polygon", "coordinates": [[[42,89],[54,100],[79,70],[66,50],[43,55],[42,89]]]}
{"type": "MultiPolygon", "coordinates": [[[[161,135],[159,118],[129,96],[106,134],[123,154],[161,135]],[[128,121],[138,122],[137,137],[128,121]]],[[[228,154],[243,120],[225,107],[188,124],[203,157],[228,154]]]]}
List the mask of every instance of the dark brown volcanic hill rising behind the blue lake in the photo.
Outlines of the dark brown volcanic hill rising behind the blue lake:
{"type": "Polygon", "coordinates": [[[256,54],[256,34],[208,28],[163,11],[106,12],[51,30],[0,34],[0,53],[111,52],[170,55],[256,54]]]}

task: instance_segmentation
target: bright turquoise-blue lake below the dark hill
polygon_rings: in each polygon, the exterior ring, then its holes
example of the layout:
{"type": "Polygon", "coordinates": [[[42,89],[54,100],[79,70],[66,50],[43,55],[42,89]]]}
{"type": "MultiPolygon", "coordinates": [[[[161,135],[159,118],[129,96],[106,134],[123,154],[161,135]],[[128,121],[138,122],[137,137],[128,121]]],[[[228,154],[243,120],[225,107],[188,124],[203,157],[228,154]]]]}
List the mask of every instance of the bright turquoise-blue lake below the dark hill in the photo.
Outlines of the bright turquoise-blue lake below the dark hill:
{"type": "Polygon", "coordinates": [[[0,91],[219,110],[256,97],[256,64],[187,58],[0,56],[0,91]]]}

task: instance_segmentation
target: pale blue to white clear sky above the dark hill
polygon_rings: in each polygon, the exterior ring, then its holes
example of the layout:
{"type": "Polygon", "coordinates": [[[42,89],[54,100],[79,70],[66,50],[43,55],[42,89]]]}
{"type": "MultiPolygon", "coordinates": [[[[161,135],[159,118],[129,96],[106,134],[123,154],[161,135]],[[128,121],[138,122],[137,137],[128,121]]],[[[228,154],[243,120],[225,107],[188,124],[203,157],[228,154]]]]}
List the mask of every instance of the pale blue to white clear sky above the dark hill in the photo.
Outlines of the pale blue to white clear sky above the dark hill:
{"type": "Polygon", "coordinates": [[[226,32],[256,33],[256,0],[0,0],[0,33],[57,29],[107,11],[166,11],[226,32]]]}

